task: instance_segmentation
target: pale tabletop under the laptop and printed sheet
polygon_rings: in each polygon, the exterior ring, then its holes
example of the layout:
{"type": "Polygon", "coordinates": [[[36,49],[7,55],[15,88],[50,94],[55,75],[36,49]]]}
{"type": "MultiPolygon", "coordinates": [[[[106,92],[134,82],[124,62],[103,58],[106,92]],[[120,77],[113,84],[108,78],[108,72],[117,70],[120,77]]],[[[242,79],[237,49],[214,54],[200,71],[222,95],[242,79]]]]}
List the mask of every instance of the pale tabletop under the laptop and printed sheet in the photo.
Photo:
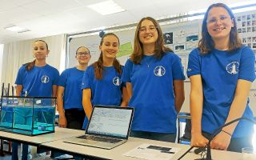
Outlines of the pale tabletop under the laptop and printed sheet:
{"type": "MultiPolygon", "coordinates": [[[[76,156],[80,156],[83,158],[92,158],[92,159],[117,159],[117,160],[138,160],[138,158],[131,158],[123,156],[129,150],[133,150],[135,147],[142,145],[143,143],[149,143],[156,146],[170,146],[170,147],[178,147],[181,150],[178,154],[174,155],[172,159],[178,159],[182,154],[186,152],[190,148],[190,146],[182,145],[178,143],[171,142],[159,142],[142,138],[129,138],[128,142],[122,144],[121,146],[117,146],[111,150],[104,150],[100,148],[90,147],[90,146],[81,146],[64,142],[64,139],[60,139],[53,142],[42,143],[39,148],[47,149],[47,150],[55,150],[62,151],[66,154],[74,154],[76,156]]],[[[235,152],[223,151],[223,150],[211,150],[213,159],[220,160],[242,160],[242,159],[256,159],[256,155],[251,155],[252,157],[246,157],[246,154],[240,154],[235,152]]],[[[194,154],[194,152],[190,152],[186,154],[182,160],[191,160],[201,158],[201,155],[194,154]]]]}

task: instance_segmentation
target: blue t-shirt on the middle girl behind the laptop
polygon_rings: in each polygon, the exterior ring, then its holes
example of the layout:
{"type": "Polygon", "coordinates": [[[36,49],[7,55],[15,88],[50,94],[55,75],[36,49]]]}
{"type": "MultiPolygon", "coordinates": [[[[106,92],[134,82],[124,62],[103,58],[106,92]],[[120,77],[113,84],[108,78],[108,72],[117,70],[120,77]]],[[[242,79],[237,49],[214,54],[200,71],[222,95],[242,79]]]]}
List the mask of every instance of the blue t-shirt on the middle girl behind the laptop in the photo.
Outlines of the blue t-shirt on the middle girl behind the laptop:
{"type": "MultiPolygon", "coordinates": [[[[103,78],[95,78],[94,66],[88,66],[82,78],[82,90],[90,88],[91,103],[95,105],[120,106],[122,102],[121,74],[114,69],[114,66],[103,67],[103,78]]],[[[83,123],[86,128],[87,117],[83,123]]]]}

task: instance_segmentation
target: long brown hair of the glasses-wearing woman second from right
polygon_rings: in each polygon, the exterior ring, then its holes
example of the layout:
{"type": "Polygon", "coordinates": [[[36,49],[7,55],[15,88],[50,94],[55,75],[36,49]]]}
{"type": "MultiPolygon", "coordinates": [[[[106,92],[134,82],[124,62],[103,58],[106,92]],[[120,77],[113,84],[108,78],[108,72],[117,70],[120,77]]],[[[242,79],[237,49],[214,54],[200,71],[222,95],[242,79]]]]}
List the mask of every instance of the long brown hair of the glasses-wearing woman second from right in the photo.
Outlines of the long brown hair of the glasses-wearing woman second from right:
{"type": "Polygon", "coordinates": [[[155,49],[154,49],[154,56],[158,59],[161,59],[162,56],[167,52],[167,51],[172,51],[170,48],[164,46],[164,40],[163,40],[163,35],[162,35],[162,30],[161,27],[159,26],[158,22],[154,18],[146,17],[142,18],[136,27],[135,30],[135,36],[134,36],[134,51],[130,55],[130,59],[132,62],[135,64],[139,64],[142,61],[142,56],[143,56],[143,47],[142,47],[142,42],[139,40],[139,33],[138,30],[142,25],[142,22],[144,20],[149,20],[153,22],[154,26],[156,27],[156,30],[158,31],[158,39],[155,42],[155,49]]]}

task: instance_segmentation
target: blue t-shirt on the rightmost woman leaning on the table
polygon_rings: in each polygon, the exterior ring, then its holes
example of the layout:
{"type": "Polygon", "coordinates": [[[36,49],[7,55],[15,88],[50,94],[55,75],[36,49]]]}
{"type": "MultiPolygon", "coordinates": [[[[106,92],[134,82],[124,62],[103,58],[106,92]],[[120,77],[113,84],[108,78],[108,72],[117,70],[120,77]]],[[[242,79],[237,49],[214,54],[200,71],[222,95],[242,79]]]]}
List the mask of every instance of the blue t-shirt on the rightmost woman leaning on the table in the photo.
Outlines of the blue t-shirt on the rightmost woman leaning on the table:
{"type": "MultiPolygon", "coordinates": [[[[238,79],[254,82],[254,52],[247,46],[234,51],[212,50],[209,54],[200,54],[199,49],[189,55],[188,77],[202,76],[203,109],[202,130],[212,134],[216,128],[226,122],[238,79]]],[[[242,117],[254,119],[249,100],[242,117]]],[[[246,137],[253,134],[253,124],[238,122],[232,137],[246,137]]]]}

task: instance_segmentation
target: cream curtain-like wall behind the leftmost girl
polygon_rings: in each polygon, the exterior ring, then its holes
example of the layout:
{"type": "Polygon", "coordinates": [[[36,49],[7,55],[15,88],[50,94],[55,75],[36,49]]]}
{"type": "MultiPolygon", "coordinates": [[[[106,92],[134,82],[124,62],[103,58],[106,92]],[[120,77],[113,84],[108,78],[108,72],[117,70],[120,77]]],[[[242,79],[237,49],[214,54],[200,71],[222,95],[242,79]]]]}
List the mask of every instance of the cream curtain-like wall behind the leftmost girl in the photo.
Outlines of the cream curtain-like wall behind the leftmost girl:
{"type": "Polygon", "coordinates": [[[34,60],[32,44],[35,40],[42,39],[47,42],[50,54],[46,59],[47,64],[58,70],[61,68],[62,54],[65,53],[66,39],[64,34],[46,38],[30,39],[21,42],[11,42],[4,46],[2,58],[2,82],[14,85],[18,69],[26,62],[34,60]]]}

